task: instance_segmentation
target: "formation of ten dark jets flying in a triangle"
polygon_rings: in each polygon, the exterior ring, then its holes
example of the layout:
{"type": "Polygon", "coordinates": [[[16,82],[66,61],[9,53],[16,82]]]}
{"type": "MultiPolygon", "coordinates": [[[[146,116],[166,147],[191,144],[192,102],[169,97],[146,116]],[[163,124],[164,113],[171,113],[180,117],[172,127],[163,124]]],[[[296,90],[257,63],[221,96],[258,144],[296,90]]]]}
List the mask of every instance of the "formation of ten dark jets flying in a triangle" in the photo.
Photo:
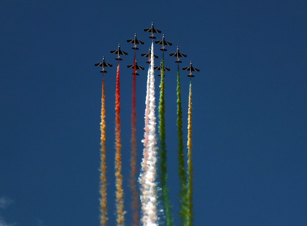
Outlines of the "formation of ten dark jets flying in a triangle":
{"type": "MultiPolygon", "coordinates": [[[[144,31],[146,31],[146,32],[151,32],[151,36],[149,37],[149,38],[151,38],[151,39],[156,39],[156,37],[154,37],[153,33],[161,33],[160,30],[158,30],[158,29],[156,29],[156,28],[153,27],[153,22],[151,23],[151,28],[145,28],[144,31]]],[[[135,51],[135,50],[138,50],[137,44],[141,44],[141,45],[144,44],[144,42],[142,42],[141,40],[138,40],[138,39],[137,39],[136,33],[134,34],[134,39],[127,39],[127,42],[128,42],[128,43],[133,43],[133,44],[134,44],[134,46],[132,47],[132,49],[134,49],[134,51],[135,51]]],[[[161,40],[161,41],[160,41],[160,40],[155,41],[155,43],[156,43],[156,44],[162,45],[162,48],[160,49],[160,50],[162,50],[162,51],[167,51],[167,50],[165,49],[165,46],[171,46],[171,45],[172,45],[172,43],[170,43],[170,42],[168,42],[168,41],[165,41],[165,36],[164,36],[164,34],[162,35],[162,40],[161,40]]],[[[128,55],[127,52],[122,51],[122,50],[120,49],[120,45],[119,45],[119,44],[118,44],[118,49],[117,49],[117,50],[111,50],[111,53],[117,54],[117,58],[115,58],[115,60],[118,60],[118,61],[121,61],[121,60],[122,60],[122,59],[120,58],[120,55],[128,55]]],[[[176,53],[174,53],[174,52],[173,52],[173,53],[170,53],[169,55],[172,56],[172,57],[177,57],[177,61],[175,61],[175,62],[178,63],[178,64],[181,63],[179,57],[187,57],[186,54],[180,53],[180,52],[179,52],[179,47],[178,47],[178,46],[177,46],[177,52],[176,52],[176,53]]],[[[143,57],[148,57],[148,61],[146,61],[146,63],[149,63],[149,64],[150,64],[151,48],[149,48],[148,53],[143,53],[143,54],[141,54],[141,56],[143,56],[143,57]]],[[[153,55],[153,56],[154,56],[155,58],[158,58],[158,56],[156,56],[156,55],[153,55]]],[[[100,71],[100,72],[102,72],[102,73],[107,73],[107,71],[105,71],[105,69],[104,69],[105,67],[112,67],[111,64],[105,63],[105,62],[104,62],[104,57],[103,57],[102,63],[100,63],[100,62],[95,63],[95,66],[100,66],[100,67],[102,67],[102,70],[100,71]]],[[[136,60],[136,59],[135,59],[134,64],[133,64],[133,65],[127,65],[127,68],[135,69],[134,72],[132,73],[133,75],[134,75],[134,74],[135,74],[135,75],[139,75],[139,74],[137,73],[137,70],[144,70],[143,67],[137,65],[137,60],[136,60]]],[[[160,70],[160,72],[161,72],[161,69],[162,69],[162,61],[160,62],[160,66],[153,67],[153,69],[154,69],[154,70],[160,70]]],[[[199,71],[200,71],[200,69],[197,69],[197,68],[195,68],[195,67],[192,67],[192,61],[190,62],[190,66],[189,66],[189,67],[184,67],[184,68],[182,68],[182,70],[190,71],[190,74],[188,75],[188,77],[190,77],[190,78],[194,77],[194,75],[192,75],[192,72],[194,72],[194,71],[199,72],[199,71]]],[[[170,69],[167,68],[167,67],[164,67],[164,71],[170,71],[170,69]]],[[[158,76],[161,76],[161,73],[160,73],[158,76]]]]}

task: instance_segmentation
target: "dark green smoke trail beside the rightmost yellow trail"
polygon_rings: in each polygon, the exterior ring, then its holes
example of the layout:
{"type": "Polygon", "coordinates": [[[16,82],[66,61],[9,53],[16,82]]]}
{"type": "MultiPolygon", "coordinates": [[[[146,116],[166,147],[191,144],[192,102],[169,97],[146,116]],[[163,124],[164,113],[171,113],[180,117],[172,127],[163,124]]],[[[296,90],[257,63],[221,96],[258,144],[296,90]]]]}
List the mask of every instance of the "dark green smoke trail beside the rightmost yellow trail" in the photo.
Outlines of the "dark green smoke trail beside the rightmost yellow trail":
{"type": "Polygon", "coordinates": [[[183,132],[182,132],[182,108],[181,108],[181,88],[179,63],[177,70],[177,134],[178,134],[178,174],[181,184],[180,190],[180,225],[188,225],[189,208],[188,208],[188,187],[187,176],[185,172],[185,157],[183,153],[183,132]]]}

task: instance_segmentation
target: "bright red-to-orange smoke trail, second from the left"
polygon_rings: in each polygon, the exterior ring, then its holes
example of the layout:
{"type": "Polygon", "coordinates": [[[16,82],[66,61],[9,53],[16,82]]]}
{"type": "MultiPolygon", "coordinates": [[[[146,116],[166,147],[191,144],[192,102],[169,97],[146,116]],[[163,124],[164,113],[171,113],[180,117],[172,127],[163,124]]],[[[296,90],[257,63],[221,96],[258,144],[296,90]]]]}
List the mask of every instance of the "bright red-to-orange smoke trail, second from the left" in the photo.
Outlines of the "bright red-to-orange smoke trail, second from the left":
{"type": "Polygon", "coordinates": [[[122,160],[121,160],[121,138],[120,138],[120,91],[119,91],[119,64],[117,66],[117,76],[116,76],[116,94],[115,94],[115,111],[116,111],[116,126],[115,126],[115,177],[116,177],[116,221],[118,226],[124,226],[125,218],[124,215],[124,191],[122,189],[122,160]]]}

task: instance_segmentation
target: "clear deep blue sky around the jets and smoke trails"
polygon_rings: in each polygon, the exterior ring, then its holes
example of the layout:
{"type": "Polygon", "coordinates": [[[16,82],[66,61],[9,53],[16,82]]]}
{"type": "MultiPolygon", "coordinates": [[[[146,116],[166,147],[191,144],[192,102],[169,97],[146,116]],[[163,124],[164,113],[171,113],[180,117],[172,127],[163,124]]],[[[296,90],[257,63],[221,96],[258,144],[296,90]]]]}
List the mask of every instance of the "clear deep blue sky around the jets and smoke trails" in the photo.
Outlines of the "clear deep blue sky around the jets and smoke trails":
{"type": "MultiPolygon", "coordinates": [[[[171,203],[179,222],[177,63],[192,78],[195,225],[307,225],[307,3],[305,1],[2,1],[0,3],[0,224],[99,225],[100,110],[107,68],[109,225],[115,225],[115,79],[120,62],[126,225],[134,50],[141,168],[148,64],[155,28],[173,43],[165,66],[171,203]],[[201,3],[200,3],[201,2],[201,3]]],[[[157,34],[157,39],[162,38],[157,34]]],[[[157,40],[156,39],[156,40],[157,40]]],[[[161,46],[154,46],[159,56],[161,46]]],[[[184,143],[189,78],[181,73],[184,143]]],[[[157,73],[156,73],[157,75],[157,73]]],[[[156,98],[160,77],[156,76],[156,98]]],[[[185,149],[185,153],[187,149],[185,149]]]]}

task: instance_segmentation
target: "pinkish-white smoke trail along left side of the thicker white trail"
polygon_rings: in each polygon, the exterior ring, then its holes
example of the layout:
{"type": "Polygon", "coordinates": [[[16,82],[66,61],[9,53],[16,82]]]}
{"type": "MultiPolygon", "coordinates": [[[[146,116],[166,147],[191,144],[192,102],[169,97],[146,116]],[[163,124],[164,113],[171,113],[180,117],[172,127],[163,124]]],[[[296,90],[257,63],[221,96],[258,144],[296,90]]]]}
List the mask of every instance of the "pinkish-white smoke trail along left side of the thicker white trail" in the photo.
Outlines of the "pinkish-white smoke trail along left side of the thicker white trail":
{"type": "Polygon", "coordinates": [[[139,177],[139,183],[141,184],[141,204],[142,204],[142,222],[143,225],[147,222],[146,217],[146,206],[147,206],[147,191],[149,190],[149,186],[146,184],[146,172],[148,170],[147,160],[148,160],[148,135],[149,135],[149,86],[150,86],[150,65],[148,68],[148,75],[147,75],[147,89],[146,89],[146,109],[145,109],[145,127],[144,127],[144,139],[142,140],[142,143],[144,144],[143,149],[143,158],[142,158],[142,169],[139,177]]]}

